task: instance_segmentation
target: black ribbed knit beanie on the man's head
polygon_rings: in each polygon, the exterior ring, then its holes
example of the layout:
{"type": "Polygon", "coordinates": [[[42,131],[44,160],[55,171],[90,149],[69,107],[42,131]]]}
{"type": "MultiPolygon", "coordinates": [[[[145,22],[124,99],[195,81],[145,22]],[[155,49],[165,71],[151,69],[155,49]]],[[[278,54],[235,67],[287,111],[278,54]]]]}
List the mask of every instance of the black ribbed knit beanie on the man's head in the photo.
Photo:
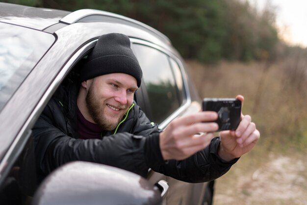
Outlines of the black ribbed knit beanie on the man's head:
{"type": "Polygon", "coordinates": [[[111,73],[128,74],[136,79],[138,87],[141,85],[142,70],[124,34],[109,33],[99,37],[80,70],[79,81],[111,73]]]}

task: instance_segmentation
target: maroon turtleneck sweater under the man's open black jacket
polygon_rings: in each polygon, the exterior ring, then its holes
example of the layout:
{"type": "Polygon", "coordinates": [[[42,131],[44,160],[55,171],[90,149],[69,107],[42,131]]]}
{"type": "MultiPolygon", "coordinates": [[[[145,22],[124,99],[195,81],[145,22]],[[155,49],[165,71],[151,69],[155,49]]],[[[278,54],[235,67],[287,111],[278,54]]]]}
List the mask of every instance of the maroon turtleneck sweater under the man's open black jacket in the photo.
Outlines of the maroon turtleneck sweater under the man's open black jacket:
{"type": "Polygon", "coordinates": [[[101,139],[103,129],[94,123],[87,121],[79,108],[77,108],[78,133],[81,139],[101,139]]]}

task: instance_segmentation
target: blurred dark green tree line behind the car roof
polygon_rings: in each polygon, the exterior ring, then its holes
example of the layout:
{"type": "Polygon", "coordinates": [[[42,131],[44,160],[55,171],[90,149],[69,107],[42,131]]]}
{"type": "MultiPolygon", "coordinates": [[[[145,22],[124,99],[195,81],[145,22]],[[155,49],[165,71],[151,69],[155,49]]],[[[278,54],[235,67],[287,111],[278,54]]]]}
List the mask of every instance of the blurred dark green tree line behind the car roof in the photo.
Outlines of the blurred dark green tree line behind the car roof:
{"type": "Polygon", "coordinates": [[[184,58],[205,63],[276,58],[280,43],[273,9],[257,11],[242,0],[6,0],[74,11],[121,14],[168,36],[184,58]]]}

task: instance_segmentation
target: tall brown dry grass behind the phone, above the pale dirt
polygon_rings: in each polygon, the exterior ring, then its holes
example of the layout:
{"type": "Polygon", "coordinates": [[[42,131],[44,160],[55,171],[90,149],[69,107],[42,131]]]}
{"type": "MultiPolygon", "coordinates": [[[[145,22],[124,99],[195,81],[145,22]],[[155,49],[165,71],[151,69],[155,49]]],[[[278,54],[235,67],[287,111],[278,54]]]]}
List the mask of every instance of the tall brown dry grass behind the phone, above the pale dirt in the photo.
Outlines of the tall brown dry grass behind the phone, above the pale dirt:
{"type": "Polygon", "coordinates": [[[285,62],[187,65],[201,97],[245,97],[243,113],[253,117],[266,146],[307,150],[307,80],[300,90],[291,84],[285,62]]]}

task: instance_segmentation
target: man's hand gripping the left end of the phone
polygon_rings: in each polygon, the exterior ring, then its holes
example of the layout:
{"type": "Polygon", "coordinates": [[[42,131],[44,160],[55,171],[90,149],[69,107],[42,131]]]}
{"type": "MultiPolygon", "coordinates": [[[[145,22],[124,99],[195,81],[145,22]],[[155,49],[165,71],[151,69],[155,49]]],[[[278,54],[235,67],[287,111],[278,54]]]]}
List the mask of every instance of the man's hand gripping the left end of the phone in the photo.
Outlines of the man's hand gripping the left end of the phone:
{"type": "Polygon", "coordinates": [[[163,159],[182,160],[205,149],[218,130],[212,122],[217,118],[216,112],[202,111],[173,120],[159,135],[163,159]]]}

